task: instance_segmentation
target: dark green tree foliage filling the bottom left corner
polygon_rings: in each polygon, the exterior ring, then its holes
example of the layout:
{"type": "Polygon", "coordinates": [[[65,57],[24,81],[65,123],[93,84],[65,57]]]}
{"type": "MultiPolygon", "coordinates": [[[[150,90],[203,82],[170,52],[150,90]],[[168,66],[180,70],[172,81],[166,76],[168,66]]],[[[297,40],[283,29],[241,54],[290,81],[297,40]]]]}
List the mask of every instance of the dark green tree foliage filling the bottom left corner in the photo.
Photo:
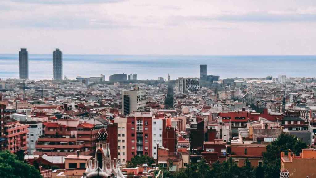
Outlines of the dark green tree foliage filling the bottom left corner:
{"type": "Polygon", "coordinates": [[[9,151],[0,152],[1,178],[41,178],[40,171],[19,160],[9,151]]]}

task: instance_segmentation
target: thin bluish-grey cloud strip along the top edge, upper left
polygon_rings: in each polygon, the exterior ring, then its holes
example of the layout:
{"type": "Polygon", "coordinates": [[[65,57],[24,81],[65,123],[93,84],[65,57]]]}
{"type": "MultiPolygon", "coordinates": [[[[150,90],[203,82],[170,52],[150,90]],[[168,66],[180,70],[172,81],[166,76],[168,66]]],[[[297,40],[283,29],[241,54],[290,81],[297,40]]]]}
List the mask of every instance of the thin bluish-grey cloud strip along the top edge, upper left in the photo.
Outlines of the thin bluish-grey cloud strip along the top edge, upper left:
{"type": "Polygon", "coordinates": [[[17,3],[34,4],[93,4],[93,3],[119,3],[125,0],[11,0],[17,3]]]}

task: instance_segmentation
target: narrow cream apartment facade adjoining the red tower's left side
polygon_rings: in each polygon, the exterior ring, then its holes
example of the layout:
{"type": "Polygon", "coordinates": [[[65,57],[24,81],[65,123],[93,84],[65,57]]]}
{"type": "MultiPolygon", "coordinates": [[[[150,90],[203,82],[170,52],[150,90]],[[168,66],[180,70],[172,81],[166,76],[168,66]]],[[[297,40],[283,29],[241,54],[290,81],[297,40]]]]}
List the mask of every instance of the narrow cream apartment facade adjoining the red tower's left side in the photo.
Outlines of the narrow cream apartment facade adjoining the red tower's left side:
{"type": "Polygon", "coordinates": [[[127,161],[127,135],[126,135],[126,123],[127,118],[114,118],[114,123],[118,124],[118,159],[122,165],[127,161]]]}

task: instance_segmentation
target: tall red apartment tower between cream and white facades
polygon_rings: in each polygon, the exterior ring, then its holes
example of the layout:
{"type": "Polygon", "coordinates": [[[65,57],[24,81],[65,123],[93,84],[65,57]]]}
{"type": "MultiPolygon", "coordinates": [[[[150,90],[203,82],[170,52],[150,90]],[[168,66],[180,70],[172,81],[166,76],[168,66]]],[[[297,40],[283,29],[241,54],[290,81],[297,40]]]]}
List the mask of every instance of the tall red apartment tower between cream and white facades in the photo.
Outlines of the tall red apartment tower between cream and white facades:
{"type": "Polygon", "coordinates": [[[135,112],[134,116],[127,117],[127,161],[135,155],[153,156],[152,127],[152,115],[149,112],[135,112]]]}

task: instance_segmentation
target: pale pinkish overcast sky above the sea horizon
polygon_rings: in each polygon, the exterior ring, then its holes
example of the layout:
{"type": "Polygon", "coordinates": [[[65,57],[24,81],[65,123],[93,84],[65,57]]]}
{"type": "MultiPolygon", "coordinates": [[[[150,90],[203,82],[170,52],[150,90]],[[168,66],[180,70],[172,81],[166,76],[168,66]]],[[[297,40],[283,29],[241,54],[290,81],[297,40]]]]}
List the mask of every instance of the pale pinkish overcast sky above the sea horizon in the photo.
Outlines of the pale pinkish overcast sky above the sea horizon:
{"type": "Polygon", "coordinates": [[[314,55],[315,0],[0,0],[0,54],[314,55]]]}

